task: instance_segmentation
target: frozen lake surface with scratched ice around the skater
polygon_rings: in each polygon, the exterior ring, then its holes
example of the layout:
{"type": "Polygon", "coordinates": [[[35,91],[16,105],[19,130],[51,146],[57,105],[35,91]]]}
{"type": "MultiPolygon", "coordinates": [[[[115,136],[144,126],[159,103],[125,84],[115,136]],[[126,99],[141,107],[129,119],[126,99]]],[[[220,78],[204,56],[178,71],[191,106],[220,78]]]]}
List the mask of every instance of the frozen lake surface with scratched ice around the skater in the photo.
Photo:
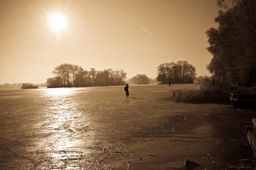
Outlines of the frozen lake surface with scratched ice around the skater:
{"type": "Polygon", "coordinates": [[[0,167],[183,169],[187,157],[202,169],[248,164],[244,126],[255,113],[172,101],[171,90],[193,88],[130,86],[130,97],[123,86],[0,90],[0,167]]]}

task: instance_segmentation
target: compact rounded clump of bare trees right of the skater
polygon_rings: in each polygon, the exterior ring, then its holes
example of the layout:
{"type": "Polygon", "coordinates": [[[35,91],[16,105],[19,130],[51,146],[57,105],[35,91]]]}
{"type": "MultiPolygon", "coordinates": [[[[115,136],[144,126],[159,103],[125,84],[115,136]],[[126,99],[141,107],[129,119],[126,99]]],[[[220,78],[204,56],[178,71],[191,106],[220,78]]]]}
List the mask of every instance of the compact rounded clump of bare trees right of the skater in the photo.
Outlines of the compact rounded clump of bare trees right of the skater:
{"type": "Polygon", "coordinates": [[[193,83],[195,78],[195,67],[188,61],[178,61],[177,63],[163,63],[157,67],[156,80],[162,84],[193,83]]]}

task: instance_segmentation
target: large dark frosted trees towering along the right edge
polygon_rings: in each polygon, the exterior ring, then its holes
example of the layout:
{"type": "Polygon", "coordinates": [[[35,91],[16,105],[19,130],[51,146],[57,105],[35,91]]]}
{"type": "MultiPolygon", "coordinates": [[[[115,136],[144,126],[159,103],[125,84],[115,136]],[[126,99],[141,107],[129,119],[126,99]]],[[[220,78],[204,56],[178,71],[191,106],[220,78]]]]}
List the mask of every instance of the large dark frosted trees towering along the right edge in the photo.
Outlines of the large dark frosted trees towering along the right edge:
{"type": "Polygon", "coordinates": [[[215,22],[218,28],[210,28],[206,35],[213,59],[207,69],[217,81],[229,83],[256,83],[256,2],[234,0],[228,7],[218,0],[221,8],[215,22]]]}

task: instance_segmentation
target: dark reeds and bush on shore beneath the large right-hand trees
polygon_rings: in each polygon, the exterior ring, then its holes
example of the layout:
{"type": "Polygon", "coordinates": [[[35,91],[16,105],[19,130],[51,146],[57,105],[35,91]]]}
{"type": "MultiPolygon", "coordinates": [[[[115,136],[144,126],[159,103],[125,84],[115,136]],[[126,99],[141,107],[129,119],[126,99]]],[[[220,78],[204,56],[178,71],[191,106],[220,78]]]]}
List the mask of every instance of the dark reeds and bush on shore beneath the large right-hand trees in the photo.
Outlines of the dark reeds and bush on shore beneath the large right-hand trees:
{"type": "Polygon", "coordinates": [[[200,89],[189,91],[173,91],[173,98],[176,102],[213,102],[229,103],[229,93],[231,87],[228,83],[219,83],[214,79],[205,77],[201,83],[200,89]]]}

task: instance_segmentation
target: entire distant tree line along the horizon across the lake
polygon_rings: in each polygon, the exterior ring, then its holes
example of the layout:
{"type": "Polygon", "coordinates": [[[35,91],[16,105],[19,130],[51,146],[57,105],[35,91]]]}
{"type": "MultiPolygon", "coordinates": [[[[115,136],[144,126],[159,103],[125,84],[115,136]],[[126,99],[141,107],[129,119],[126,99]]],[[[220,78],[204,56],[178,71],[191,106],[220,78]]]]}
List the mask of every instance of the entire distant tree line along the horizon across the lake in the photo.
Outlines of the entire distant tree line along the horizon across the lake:
{"type": "MultiPolygon", "coordinates": [[[[126,73],[124,70],[104,69],[97,71],[94,68],[85,70],[75,64],[63,63],[56,66],[52,73],[53,78],[48,78],[46,83],[31,84],[0,84],[0,89],[11,88],[35,88],[35,87],[85,87],[85,86],[106,86],[124,85],[126,83],[126,73]]],[[[131,84],[149,83],[193,83],[195,78],[195,67],[188,61],[178,61],[177,63],[163,63],[157,67],[157,78],[150,79],[145,74],[137,74],[128,80],[131,84]]]]}

